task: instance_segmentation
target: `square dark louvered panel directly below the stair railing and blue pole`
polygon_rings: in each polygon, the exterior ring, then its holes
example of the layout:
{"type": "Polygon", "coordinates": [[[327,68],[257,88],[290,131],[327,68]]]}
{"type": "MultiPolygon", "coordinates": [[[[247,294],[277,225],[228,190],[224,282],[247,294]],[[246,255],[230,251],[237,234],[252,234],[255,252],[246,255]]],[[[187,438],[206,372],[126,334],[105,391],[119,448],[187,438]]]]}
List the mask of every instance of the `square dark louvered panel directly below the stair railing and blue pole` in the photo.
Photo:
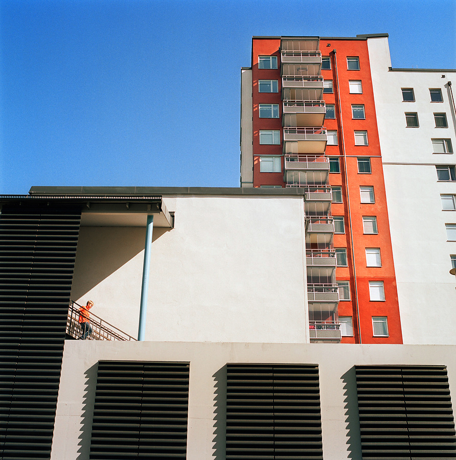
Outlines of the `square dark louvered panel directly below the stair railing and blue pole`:
{"type": "Polygon", "coordinates": [[[90,458],[186,458],[189,363],[100,361],[90,458]]]}

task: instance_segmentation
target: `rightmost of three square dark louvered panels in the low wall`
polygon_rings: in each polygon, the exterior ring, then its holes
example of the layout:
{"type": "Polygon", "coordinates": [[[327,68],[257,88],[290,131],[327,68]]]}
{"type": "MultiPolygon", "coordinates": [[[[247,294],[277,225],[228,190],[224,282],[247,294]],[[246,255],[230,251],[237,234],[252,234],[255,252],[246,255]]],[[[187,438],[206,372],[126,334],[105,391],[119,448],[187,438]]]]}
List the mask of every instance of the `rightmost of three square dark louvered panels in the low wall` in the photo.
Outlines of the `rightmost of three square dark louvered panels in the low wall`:
{"type": "Polygon", "coordinates": [[[456,458],[445,366],[356,366],[363,460],[456,458]]]}

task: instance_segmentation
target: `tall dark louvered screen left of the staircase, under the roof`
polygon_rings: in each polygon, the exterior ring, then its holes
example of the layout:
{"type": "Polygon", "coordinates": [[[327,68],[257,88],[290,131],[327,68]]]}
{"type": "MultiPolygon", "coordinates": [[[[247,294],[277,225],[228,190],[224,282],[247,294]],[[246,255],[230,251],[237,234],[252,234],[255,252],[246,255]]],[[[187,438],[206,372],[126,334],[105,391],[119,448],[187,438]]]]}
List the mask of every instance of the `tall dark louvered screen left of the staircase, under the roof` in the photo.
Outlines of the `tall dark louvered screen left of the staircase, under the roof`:
{"type": "Polygon", "coordinates": [[[0,457],[50,458],[80,209],[0,216],[0,457]]]}

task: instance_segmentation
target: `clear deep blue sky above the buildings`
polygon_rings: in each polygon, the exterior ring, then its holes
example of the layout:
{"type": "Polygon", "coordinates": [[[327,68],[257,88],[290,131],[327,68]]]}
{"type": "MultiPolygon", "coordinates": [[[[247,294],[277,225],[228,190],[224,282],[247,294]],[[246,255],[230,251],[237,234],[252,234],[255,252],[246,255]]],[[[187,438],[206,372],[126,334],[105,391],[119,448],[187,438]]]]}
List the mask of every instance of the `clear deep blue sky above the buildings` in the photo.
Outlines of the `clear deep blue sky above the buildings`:
{"type": "Polygon", "coordinates": [[[389,33],[394,67],[456,68],[456,2],[0,0],[0,193],[239,187],[253,35],[389,33]]]}

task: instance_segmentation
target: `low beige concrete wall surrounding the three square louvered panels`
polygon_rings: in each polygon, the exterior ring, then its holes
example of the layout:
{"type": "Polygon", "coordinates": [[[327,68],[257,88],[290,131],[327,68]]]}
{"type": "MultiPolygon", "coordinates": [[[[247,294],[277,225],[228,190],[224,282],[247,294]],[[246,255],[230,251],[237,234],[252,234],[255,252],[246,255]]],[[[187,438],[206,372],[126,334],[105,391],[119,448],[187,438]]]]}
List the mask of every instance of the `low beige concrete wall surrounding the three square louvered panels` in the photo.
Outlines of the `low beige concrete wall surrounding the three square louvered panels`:
{"type": "Polygon", "coordinates": [[[99,360],[190,362],[187,459],[225,458],[226,363],[318,364],[325,460],[360,460],[354,365],[446,365],[456,389],[456,347],[67,340],[51,460],[87,460],[99,360]]]}

